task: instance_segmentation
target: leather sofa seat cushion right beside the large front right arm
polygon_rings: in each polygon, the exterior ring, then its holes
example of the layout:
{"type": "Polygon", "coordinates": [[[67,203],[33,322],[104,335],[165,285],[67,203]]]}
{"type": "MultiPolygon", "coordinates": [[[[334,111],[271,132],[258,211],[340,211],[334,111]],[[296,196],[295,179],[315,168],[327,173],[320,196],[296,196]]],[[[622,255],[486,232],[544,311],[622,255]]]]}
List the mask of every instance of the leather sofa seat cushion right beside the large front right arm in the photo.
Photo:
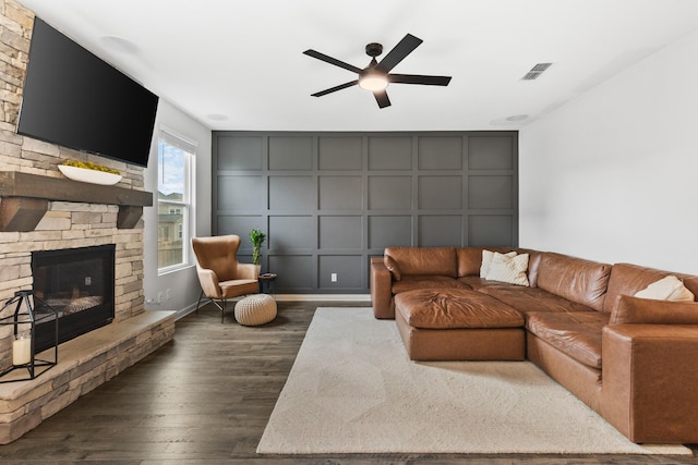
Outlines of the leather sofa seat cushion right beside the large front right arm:
{"type": "Polygon", "coordinates": [[[562,353],[591,368],[601,368],[601,331],[609,314],[542,313],[526,316],[526,329],[562,353]]]}

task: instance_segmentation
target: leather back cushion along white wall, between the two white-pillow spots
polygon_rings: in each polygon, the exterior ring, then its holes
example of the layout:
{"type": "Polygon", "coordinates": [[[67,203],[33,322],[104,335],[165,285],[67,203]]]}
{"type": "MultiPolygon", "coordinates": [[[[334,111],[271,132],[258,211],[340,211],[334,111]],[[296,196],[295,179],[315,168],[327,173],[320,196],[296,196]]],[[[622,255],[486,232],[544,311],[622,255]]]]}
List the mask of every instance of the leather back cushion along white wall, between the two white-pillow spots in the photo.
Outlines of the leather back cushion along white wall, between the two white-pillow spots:
{"type": "Polygon", "coordinates": [[[545,252],[540,258],[537,284],[544,291],[603,310],[611,265],[545,252]]]}

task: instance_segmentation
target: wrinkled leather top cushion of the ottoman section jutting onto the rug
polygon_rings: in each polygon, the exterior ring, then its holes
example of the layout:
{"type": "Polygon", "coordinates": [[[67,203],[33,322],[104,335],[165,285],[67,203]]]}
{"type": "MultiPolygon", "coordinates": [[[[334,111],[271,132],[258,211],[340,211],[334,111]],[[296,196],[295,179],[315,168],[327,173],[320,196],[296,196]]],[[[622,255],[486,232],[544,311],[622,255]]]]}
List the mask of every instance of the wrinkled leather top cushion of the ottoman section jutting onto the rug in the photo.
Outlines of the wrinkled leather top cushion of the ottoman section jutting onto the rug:
{"type": "Polygon", "coordinates": [[[514,308],[466,289],[404,292],[395,296],[395,311],[421,329],[524,327],[524,317],[514,308]]]}

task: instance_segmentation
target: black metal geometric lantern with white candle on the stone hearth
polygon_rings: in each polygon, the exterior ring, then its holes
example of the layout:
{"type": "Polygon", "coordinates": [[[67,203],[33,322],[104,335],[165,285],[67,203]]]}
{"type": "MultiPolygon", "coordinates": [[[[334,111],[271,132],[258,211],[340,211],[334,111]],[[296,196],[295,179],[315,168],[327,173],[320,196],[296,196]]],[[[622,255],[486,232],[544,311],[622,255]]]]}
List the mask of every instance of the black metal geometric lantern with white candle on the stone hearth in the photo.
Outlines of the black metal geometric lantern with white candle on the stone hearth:
{"type": "Polygon", "coordinates": [[[12,366],[0,372],[0,383],[32,380],[58,364],[58,311],[32,291],[15,292],[14,297],[2,306],[0,315],[12,305],[14,313],[0,318],[0,327],[13,327],[12,366]],[[53,344],[41,352],[41,358],[37,358],[34,350],[36,325],[50,322],[55,328],[53,344]],[[21,375],[25,369],[27,375],[21,375]]]}

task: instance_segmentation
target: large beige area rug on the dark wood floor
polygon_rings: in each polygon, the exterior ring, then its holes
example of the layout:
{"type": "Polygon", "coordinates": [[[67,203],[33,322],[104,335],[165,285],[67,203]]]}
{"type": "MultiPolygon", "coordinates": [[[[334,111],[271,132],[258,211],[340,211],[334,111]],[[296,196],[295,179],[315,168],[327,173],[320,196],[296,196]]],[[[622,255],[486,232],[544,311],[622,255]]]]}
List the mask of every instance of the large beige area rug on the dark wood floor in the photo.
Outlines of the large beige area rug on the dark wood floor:
{"type": "Polygon", "coordinates": [[[691,452],[628,441],[528,362],[410,362],[395,321],[318,308],[257,453],[691,452]]]}

